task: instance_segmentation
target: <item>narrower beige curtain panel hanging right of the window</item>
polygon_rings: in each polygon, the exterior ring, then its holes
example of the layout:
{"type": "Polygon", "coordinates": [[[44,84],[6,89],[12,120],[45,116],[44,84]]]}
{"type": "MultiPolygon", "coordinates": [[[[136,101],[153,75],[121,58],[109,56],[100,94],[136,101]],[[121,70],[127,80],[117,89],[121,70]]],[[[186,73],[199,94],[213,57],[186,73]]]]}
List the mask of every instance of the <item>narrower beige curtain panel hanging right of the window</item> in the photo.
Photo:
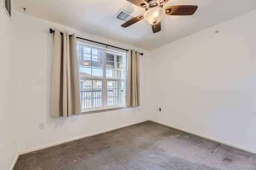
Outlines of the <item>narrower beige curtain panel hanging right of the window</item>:
{"type": "Polygon", "coordinates": [[[140,60],[139,52],[126,52],[126,107],[140,106],[140,60]]]}

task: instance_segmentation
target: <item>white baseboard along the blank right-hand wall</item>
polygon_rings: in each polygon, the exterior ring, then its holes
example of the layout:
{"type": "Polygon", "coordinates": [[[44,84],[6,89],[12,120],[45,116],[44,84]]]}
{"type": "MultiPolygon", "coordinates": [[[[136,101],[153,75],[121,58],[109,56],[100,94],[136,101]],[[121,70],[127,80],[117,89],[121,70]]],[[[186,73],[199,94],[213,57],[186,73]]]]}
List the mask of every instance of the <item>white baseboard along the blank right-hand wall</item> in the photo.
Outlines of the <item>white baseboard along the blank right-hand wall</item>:
{"type": "Polygon", "coordinates": [[[165,125],[165,126],[168,126],[168,127],[172,127],[174,129],[178,129],[180,131],[184,131],[184,132],[187,132],[187,133],[191,133],[193,135],[196,135],[196,136],[200,136],[200,137],[203,137],[203,138],[206,138],[206,139],[210,139],[212,141],[216,141],[216,142],[219,142],[219,143],[222,143],[222,144],[225,144],[225,145],[228,145],[230,147],[235,147],[235,148],[238,148],[238,149],[242,149],[242,150],[245,150],[245,151],[248,151],[248,152],[252,152],[252,153],[255,153],[256,154],[256,150],[254,149],[250,149],[250,148],[246,148],[246,147],[242,147],[240,145],[236,145],[236,144],[233,144],[233,143],[229,143],[229,142],[226,142],[226,141],[222,141],[220,139],[216,139],[216,138],[213,138],[213,137],[209,137],[209,136],[206,136],[206,135],[202,135],[200,133],[196,133],[196,132],[193,132],[193,131],[189,131],[187,129],[182,129],[180,127],[176,127],[176,126],[172,126],[172,125],[169,125],[167,123],[163,123],[163,122],[160,122],[160,121],[156,121],[156,120],[152,120],[152,119],[149,119],[150,121],[154,121],[156,123],[159,123],[159,124],[162,124],[162,125],[165,125]]]}

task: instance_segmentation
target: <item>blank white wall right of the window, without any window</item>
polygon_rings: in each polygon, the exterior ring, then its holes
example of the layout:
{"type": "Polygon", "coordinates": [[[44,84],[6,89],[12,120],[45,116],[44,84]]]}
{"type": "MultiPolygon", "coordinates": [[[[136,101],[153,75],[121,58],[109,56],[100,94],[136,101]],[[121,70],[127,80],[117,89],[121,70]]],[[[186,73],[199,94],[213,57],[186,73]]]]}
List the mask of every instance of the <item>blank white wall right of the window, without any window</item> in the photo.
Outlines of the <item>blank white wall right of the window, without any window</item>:
{"type": "Polygon", "coordinates": [[[255,18],[150,51],[150,119],[256,151],[255,18]]]}

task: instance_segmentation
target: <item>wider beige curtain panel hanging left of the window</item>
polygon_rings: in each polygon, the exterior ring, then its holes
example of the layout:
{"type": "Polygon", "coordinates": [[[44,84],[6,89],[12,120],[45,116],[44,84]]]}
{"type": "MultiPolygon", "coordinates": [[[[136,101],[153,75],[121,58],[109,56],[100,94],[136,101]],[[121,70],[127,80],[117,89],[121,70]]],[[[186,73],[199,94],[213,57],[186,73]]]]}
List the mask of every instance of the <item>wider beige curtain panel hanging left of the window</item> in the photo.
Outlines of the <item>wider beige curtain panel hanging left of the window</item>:
{"type": "Polygon", "coordinates": [[[81,114],[76,35],[54,30],[50,117],[81,114]]]}

